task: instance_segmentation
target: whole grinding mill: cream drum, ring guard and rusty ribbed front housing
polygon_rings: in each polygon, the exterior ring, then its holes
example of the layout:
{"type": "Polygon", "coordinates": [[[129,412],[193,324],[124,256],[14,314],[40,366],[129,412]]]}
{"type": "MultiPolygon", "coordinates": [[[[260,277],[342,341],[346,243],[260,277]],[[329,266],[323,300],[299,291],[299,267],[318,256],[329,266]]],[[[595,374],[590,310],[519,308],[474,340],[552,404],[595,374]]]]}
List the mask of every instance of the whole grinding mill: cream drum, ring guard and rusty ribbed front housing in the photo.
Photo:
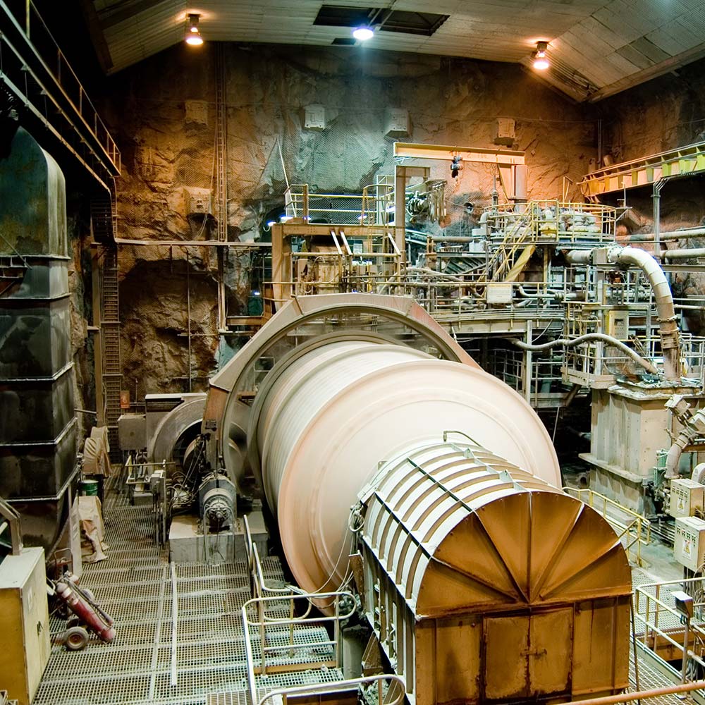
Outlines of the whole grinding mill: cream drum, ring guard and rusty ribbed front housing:
{"type": "MultiPolygon", "coordinates": [[[[544,425],[409,300],[306,297],[212,380],[204,430],[247,470],[298,585],[354,580],[410,705],[628,685],[631,575],[559,489],[544,425]]],[[[329,611],[327,601],[316,601],[329,611]]]]}

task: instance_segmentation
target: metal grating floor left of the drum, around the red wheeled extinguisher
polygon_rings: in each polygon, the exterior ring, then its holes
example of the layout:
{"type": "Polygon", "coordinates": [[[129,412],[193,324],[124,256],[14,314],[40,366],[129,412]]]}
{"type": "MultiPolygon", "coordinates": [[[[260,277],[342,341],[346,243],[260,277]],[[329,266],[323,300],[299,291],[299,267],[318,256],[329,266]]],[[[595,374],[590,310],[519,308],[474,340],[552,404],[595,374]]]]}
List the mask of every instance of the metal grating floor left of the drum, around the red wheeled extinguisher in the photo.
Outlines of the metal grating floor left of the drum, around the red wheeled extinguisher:
{"type": "MultiPolygon", "coordinates": [[[[250,599],[245,563],[177,564],[176,685],[171,685],[173,621],[171,567],[152,544],[151,505],[106,503],[108,560],[85,566],[82,586],[116,623],[113,644],[91,636],[82,651],[51,649],[34,705],[245,705],[247,675],[240,608],[250,599]]],[[[283,580],[276,558],[265,558],[269,580],[283,580]]],[[[65,623],[52,618],[54,637],[65,623]]],[[[319,636],[320,638],[320,636],[319,636]]],[[[260,679],[273,689],[341,680],[324,673],[278,673],[260,679]]],[[[264,692],[261,690],[260,692],[264,692]]]]}

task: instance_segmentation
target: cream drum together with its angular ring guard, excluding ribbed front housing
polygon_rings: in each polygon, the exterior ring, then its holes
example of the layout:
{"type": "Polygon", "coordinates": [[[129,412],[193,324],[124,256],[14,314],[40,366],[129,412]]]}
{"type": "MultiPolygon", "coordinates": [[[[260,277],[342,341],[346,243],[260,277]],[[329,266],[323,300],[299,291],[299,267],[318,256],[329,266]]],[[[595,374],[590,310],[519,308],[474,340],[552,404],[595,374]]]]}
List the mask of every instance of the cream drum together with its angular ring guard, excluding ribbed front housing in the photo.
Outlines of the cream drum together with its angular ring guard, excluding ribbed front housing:
{"type": "Polygon", "coordinates": [[[350,508],[379,462],[410,441],[460,430],[560,484],[532,408],[405,298],[290,302],[212,380],[204,429],[214,427],[233,479],[250,467],[262,484],[293,575],[309,591],[338,587],[350,508]],[[274,364],[258,376],[264,360],[274,364]],[[248,395],[251,406],[241,401],[248,395]]]}

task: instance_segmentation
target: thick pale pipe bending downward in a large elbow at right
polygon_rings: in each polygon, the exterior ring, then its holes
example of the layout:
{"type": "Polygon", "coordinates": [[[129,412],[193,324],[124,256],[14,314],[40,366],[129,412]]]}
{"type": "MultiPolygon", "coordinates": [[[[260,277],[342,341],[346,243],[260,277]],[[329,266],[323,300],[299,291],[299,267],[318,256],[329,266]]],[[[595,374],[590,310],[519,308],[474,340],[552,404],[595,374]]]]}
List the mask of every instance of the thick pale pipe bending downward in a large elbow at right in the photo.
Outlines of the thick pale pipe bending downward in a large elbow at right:
{"type": "MultiPolygon", "coordinates": [[[[598,248],[603,251],[605,248],[598,248]]],[[[594,261],[594,253],[598,250],[571,250],[568,252],[568,262],[573,264],[588,264],[594,261]]],[[[668,286],[666,275],[656,259],[649,252],[639,247],[607,247],[607,262],[623,266],[638,266],[649,280],[654,290],[656,311],[658,312],[658,331],[661,335],[661,350],[663,352],[663,374],[666,379],[680,379],[680,342],[678,324],[676,324],[673,295],[668,286]]]]}

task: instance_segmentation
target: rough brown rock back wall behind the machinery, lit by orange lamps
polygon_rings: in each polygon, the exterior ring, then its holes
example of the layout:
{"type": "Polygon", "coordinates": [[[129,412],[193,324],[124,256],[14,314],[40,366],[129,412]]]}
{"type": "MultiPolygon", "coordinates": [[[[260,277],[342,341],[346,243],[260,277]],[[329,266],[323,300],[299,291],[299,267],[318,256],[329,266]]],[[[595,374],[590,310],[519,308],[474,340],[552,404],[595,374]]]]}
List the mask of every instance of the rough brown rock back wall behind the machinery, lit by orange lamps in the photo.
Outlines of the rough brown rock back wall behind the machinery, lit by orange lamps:
{"type": "MultiPolygon", "coordinates": [[[[266,238],[266,222],[283,212],[287,180],[312,191],[359,193],[376,174],[393,173],[395,139],[494,147],[496,118],[513,118],[516,139],[508,147],[527,152],[534,198],[560,196],[564,177],[580,178],[596,156],[591,108],[572,104],[518,66],[364,48],[206,44],[194,51],[180,44],[110,80],[103,112],[123,154],[122,238],[214,237],[214,220],[189,216],[188,204],[194,193],[205,194],[207,203],[216,183],[216,51],[227,106],[229,240],[266,238]],[[304,128],[309,104],[324,106],[324,130],[304,128]],[[386,135],[389,108],[409,112],[408,137],[386,135]]],[[[447,162],[430,166],[434,178],[449,181],[453,234],[467,220],[466,202],[489,204],[496,170],[467,164],[453,180],[447,162]]],[[[577,197],[575,189],[571,195],[577,197]]],[[[185,269],[183,262],[166,262],[183,259],[186,249],[121,247],[122,353],[133,395],[183,389],[185,269]]],[[[206,376],[219,354],[207,322],[214,324],[215,253],[188,250],[190,271],[202,273],[192,291],[202,307],[196,323],[202,337],[192,345],[191,366],[206,376]]],[[[260,267],[228,257],[228,313],[245,312],[248,280],[260,267]]],[[[227,342],[237,348],[242,341],[227,342]]]]}

